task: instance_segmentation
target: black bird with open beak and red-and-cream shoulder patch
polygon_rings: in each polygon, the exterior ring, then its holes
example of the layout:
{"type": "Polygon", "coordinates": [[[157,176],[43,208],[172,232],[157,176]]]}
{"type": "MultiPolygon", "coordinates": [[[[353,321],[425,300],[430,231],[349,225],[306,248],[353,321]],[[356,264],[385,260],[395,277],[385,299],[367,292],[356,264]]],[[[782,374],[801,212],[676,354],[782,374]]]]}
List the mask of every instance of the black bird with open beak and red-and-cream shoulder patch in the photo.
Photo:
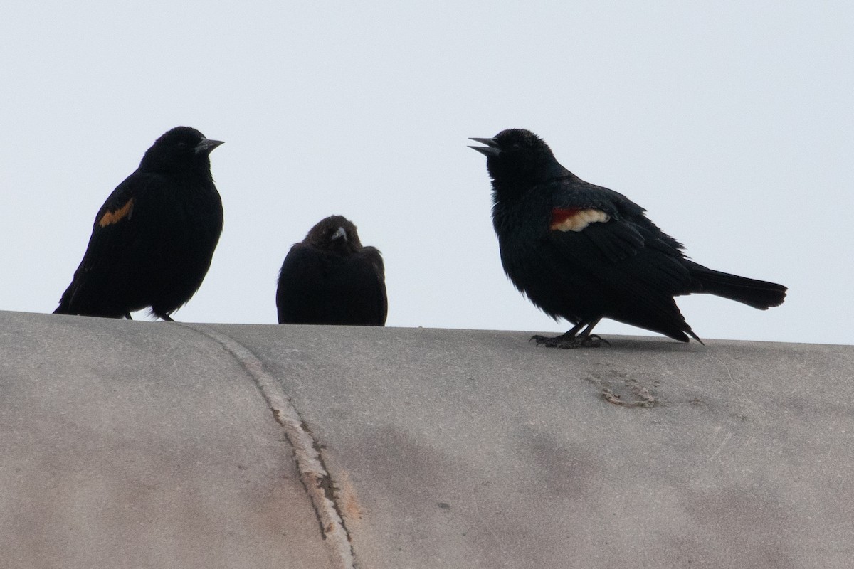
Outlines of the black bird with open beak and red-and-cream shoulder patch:
{"type": "Polygon", "coordinates": [[[537,345],[599,345],[602,318],[702,343],[673,297],[710,293],[760,310],[781,305],[786,287],[694,263],[646,210],[587,183],[555,160],[533,132],[512,129],[472,138],[486,147],[493,224],[501,264],[512,283],[547,315],[574,325],[537,345]]]}

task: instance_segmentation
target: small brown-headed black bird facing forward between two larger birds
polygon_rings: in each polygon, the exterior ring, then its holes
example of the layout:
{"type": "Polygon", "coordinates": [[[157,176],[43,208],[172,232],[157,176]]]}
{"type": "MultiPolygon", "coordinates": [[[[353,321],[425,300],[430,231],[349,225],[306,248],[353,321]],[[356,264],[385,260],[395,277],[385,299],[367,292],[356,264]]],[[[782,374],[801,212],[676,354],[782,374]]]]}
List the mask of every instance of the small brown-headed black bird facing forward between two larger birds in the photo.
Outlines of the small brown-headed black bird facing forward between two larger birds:
{"type": "Polygon", "coordinates": [[[276,308],[279,324],[383,326],[383,257],[375,247],[362,247],[347,218],[324,218],[284,258],[276,308]]]}

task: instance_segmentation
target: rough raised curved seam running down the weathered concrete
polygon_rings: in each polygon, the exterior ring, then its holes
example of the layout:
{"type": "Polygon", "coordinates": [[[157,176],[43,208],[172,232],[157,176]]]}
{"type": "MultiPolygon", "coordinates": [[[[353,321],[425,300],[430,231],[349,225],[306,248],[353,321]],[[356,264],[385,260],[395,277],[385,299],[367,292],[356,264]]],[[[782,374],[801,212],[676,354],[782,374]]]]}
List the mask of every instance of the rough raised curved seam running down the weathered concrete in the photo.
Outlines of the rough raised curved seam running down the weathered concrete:
{"type": "Polygon", "coordinates": [[[347,526],[344,525],[341,509],[336,502],[335,482],[321,456],[322,447],[313,437],[305,421],[284,393],[278,381],[264,369],[263,363],[245,345],[227,334],[208,328],[202,324],[184,324],[222,345],[237,360],[246,373],[258,386],[258,390],[272,409],[276,422],[284,429],[284,436],[294,450],[296,467],[300,473],[302,485],[312,502],[314,514],[320,526],[320,536],[330,547],[333,560],[338,569],[357,569],[354,560],[353,545],[347,526]]]}

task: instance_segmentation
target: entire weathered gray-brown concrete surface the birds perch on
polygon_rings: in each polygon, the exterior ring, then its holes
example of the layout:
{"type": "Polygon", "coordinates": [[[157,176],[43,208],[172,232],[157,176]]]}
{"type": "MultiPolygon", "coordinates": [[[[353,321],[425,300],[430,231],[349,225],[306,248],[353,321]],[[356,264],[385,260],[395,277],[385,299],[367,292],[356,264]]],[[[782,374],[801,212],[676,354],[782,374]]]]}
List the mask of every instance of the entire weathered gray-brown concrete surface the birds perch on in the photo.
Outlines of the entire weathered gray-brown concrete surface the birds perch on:
{"type": "Polygon", "coordinates": [[[3,567],[848,567],[854,347],[0,312],[3,567]]]}

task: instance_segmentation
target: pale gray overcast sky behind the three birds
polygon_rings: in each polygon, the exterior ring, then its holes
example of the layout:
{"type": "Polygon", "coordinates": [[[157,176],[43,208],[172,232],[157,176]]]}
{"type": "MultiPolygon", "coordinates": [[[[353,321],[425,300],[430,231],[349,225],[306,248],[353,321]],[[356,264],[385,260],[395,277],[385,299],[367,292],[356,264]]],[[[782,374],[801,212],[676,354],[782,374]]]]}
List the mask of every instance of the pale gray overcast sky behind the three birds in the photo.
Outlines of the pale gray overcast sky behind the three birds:
{"type": "Polygon", "coordinates": [[[699,263],[789,287],[679,299],[700,337],[854,344],[850,2],[18,2],[0,53],[0,310],[53,311],[103,200],[190,125],[225,141],[225,231],[177,320],[275,323],[285,253],[340,213],[390,326],[564,332],[506,280],[466,148],[512,127],[699,263]]]}

